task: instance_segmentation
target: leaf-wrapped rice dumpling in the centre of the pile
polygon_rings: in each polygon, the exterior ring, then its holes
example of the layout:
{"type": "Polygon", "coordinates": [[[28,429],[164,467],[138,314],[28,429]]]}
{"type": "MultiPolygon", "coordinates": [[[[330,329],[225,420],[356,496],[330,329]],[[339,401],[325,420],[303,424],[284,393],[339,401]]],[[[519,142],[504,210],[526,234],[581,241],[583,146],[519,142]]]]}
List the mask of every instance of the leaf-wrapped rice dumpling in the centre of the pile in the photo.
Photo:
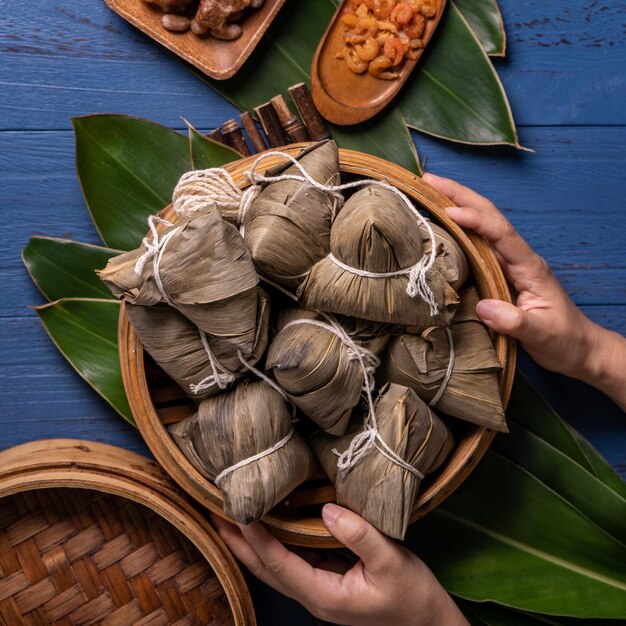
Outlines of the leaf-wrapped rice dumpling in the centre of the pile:
{"type": "Polygon", "coordinates": [[[346,318],[344,328],[330,316],[295,307],[282,312],[281,322],[266,368],[307,417],[326,432],[343,435],[366,380],[373,387],[377,355],[389,336],[361,341],[356,320],[350,324],[346,318]]]}

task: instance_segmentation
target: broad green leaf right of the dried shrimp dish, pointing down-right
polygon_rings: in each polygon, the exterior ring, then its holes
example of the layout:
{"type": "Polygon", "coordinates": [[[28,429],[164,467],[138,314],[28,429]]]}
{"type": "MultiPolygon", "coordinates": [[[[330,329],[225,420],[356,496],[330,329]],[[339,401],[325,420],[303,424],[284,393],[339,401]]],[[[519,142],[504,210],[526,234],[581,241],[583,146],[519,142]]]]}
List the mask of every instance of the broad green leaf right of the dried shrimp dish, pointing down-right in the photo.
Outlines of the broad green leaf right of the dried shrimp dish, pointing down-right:
{"type": "Polygon", "coordinates": [[[502,83],[454,2],[399,107],[409,126],[435,137],[520,147],[502,83]]]}

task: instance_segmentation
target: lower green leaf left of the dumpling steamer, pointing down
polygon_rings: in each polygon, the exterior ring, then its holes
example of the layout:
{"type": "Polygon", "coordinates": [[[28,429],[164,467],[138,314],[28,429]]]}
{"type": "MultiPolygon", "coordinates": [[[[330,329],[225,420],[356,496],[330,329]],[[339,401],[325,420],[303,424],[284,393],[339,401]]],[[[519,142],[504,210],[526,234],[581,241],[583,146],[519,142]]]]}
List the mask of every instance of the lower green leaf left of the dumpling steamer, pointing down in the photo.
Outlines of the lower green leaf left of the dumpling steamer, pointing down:
{"type": "Polygon", "coordinates": [[[65,298],[36,309],[50,338],[76,372],[125,420],[134,420],[120,370],[116,300],[65,298]]]}

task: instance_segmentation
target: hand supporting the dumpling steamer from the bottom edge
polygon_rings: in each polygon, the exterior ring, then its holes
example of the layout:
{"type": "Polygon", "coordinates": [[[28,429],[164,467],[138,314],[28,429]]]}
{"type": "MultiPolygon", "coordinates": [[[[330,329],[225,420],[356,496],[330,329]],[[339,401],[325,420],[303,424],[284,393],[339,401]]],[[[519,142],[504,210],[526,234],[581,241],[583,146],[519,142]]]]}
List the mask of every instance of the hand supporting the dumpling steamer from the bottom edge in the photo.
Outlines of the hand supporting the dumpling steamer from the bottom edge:
{"type": "Polygon", "coordinates": [[[296,554],[259,522],[234,526],[212,519],[254,576],[319,619],[346,626],[468,626],[415,555],[343,507],[327,504],[322,515],[333,536],[360,558],[355,565],[332,551],[296,554]]]}

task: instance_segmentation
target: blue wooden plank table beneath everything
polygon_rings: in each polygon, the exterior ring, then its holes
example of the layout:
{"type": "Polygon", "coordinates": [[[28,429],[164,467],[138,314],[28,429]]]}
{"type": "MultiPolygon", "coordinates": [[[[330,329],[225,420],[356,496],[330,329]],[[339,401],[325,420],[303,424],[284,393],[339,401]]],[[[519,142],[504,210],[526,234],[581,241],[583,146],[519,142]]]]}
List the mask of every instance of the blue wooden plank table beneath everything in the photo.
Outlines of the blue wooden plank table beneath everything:
{"type": "MultiPolygon", "coordinates": [[[[430,171],[491,197],[584,312],[624,333],[626,5],[501,0],[501,8],[509,54],[496,65],[521,142],[535,152],[415,135],[420,154],[430,171]]],[[[70,116],[129,113],[177,129],[185,117],[208,130],[236,111],[99,0],[0,0],[0,15],[0,449],[79,437],[147,453],[138,433],[76,376],[28,308],[42,297],[20,251],[36,234],[99,243],[76,179],[70,116]]],[[[583,384],[524,357],[521,366],[626,476],[623,413],[583,384]]],[[[261,621],[277,624],[263,590],[253,591],[261,621]]]]}

